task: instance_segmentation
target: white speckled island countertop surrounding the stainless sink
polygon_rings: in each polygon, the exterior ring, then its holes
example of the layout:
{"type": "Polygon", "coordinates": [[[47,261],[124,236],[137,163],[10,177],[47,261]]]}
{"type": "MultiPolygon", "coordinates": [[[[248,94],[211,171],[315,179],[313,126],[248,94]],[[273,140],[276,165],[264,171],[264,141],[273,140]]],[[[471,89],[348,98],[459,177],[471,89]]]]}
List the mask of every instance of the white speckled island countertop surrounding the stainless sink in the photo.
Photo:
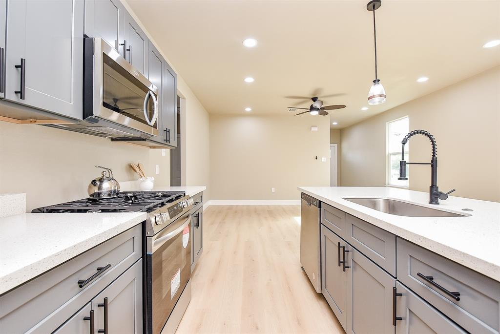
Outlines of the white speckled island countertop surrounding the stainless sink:
{"type": "Polygon", "coordinates": [[[428,204],[428,193],[392,187],[317,187],[298,190],[406,240],[500,281],[500,203],[449,196],[428,204]],[[388,214],[343,198],[393,198],[470,214],[464,217],[407,217],[388,214]],[[462,211],[470,208],[473,211],[462,211]]]}

